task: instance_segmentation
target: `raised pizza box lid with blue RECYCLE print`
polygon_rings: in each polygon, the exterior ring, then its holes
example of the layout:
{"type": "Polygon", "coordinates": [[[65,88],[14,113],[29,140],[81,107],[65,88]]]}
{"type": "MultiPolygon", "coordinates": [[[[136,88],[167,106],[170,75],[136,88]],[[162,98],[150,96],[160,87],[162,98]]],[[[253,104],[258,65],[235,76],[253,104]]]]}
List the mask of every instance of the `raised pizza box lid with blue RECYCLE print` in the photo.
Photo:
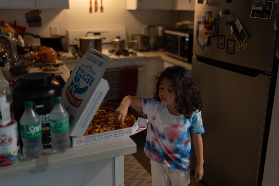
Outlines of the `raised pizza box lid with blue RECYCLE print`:
{"type": "Polygon", "coordinates": [[[70,136],[83,136],[108,92],[108,82],[102,77],[109,60],[109,56],[90,48],[63,87],[61,97],[69,113],[70,136]]]}

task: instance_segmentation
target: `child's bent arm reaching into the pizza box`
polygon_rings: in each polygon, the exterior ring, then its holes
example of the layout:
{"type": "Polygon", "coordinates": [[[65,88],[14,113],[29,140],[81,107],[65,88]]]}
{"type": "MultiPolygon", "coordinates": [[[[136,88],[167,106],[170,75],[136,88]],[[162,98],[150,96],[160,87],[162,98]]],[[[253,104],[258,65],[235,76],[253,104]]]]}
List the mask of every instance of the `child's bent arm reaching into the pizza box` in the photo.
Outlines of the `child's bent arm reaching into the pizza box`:
{"type": "Polygon", "coordinates": [[[114,118],[118,123],[123,123],[131,105],[142,107],[141,97],[127,95],[123,98],[119,107],[114,111],[114,118]]]}

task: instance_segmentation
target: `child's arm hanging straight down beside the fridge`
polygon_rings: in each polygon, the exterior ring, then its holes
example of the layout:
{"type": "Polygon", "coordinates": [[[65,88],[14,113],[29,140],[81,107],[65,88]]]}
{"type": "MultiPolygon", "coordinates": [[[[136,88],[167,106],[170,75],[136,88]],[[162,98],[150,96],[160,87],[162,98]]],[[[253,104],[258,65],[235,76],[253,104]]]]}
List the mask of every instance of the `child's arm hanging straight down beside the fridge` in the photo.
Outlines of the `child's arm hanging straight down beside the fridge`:
{"type": "Polygon", "coordinates": [[[195,134],[191,132],[191,139],[195,148],[197,167],[195,171],[194,178],[196,183],[199,182],[203,176],[203,149],[202,149],[202,138],[201,134],[195,134]]]}

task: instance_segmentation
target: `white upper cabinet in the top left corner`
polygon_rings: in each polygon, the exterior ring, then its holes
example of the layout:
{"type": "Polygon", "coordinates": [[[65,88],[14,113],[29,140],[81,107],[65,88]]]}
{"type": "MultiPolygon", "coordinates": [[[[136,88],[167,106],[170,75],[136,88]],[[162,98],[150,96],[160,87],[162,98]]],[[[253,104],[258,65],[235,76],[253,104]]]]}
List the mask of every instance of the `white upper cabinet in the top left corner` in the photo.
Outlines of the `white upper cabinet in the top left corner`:
{"type": "Polygon", "coordinates": [[[69,9],[69,0],[0,0],[0,9],[69,9]]]}

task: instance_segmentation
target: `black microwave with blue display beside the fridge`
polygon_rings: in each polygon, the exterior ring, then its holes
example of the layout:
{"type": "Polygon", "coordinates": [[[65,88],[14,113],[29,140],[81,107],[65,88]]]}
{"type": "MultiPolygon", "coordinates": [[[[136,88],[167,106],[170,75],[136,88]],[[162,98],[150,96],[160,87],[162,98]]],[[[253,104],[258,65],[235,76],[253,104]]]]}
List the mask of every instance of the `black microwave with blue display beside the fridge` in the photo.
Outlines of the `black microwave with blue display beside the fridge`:
{"type": "Polygon", "coordinates": [[[193,30],[165,30],[164,53],[191,62],[193,55],[193,30]]]}

